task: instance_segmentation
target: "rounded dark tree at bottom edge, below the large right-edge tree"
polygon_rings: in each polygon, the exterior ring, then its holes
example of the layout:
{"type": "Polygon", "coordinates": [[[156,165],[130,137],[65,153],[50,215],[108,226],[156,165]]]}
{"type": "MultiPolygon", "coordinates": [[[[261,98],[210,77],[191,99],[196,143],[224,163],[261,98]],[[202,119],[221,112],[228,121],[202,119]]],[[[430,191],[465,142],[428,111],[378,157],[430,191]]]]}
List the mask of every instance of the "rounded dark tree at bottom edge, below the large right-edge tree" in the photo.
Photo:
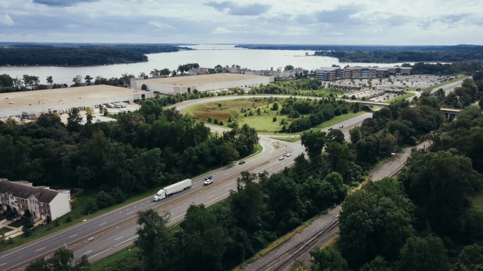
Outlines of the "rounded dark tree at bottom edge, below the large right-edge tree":
{"type": "Polygon", "coordinates": [[[424,239],[411,237],[401,249],[397,270],[439,271],[448,269],[448,259],[443,242],[429,235],[424,239]]]}

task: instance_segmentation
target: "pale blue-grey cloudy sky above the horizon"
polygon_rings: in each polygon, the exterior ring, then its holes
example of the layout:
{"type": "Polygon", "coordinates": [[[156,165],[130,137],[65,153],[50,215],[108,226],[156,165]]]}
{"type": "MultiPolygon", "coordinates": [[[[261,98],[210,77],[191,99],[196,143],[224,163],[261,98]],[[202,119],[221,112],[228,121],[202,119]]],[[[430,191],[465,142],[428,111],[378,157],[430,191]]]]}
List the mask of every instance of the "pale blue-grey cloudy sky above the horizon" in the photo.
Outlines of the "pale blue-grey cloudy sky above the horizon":
{"type": "Polygon", "coordinates": [[[0,41],[481,45],[481,14],[481,0],[0,0],[0,41]]]}

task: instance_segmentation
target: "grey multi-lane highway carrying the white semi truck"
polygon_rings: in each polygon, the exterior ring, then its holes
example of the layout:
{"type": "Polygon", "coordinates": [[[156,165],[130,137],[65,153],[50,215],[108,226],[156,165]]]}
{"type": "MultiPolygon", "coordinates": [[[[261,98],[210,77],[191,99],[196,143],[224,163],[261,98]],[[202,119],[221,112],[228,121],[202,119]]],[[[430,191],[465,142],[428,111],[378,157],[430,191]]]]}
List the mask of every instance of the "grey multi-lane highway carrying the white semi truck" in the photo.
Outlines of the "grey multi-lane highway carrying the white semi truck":
{"type": "MultiPolygon", "coordinates": [[[[232,99],[235,97],[237,96],[222,96],[216,98],[232,99]]],[[[246,98],[247,96],[239,97],[246,98]]],[[[196,103],[199,100],[189,102],[196,103]]],[[[206,102],[206,99],[203,99],[202,102],[206,102]]],[[[183,105],[187,106],[186,103],[183,105]]],[[[355,125],[360,125],[364,118],[370,116],[371,113],[364,113],[355,118],[338,123],[334,127],[344,125],[342,131],[346,135],[346,138],[348,138],[349,129],[355,125]]],[[[223,128],[217,129],[217,131],[221,130],[223,128]]],[[[324,130],[327,130],[327,128],[324,130]]],[[[59,247],[73,250],[75,259],[84,254],[89,257],[90,261],[106,257],[132,244],[135,240],[137,212],[150,208],[160,213],[170,212],[172,214],[170,224],[178,223],[184,218],[190,204],[203,203],[209,206],[227,198],[229,191],[236,189],[236,178],[239,177],[239,172],[250,171],[252,173],[259,173],[267,171],[270,174],[276,173],[285,167],[291,167],[295,157],[304,152],[304,148],[300,142],[288,143],[280,141],[279,145],[282,148],[279,149],[273,146],[273,142],[274,140],[262,135],[260,144],[263,147],[263,151],[261,153],[246,159],[246,163],[243,165],[238,165],[238,163],[231,164],[209,174],[194,178],[191,189],[157,202],[154,202],[152,197],[140,200],[49,236],[0,253],[0,270],[10,271],[22,269],[37,258],[53,254],[59,247]],[[279,161],[279,157],[287,153],[291,153],[292,156],[279,161]],[[203,186],[205,176],[213,176],[213,184],[203,186]]]]}

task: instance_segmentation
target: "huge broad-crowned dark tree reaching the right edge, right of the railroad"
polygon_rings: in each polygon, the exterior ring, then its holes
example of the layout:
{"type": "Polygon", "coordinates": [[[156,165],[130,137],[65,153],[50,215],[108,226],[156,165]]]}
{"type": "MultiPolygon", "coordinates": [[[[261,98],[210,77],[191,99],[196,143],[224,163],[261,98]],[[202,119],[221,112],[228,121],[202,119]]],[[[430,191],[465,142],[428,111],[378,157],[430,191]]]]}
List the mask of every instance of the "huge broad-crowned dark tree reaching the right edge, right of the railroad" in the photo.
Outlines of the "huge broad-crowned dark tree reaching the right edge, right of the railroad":
{"type": "MultiPolygon", "coordinates": [[[[469,158],[450,152],[413,152],[398,179],[418,206],[420,218],[442,236],[461,237],[466,227],[470,196],[483,181],[469,158]]],[[[421,225],[423,226],[423,225],[421,225]]]]}

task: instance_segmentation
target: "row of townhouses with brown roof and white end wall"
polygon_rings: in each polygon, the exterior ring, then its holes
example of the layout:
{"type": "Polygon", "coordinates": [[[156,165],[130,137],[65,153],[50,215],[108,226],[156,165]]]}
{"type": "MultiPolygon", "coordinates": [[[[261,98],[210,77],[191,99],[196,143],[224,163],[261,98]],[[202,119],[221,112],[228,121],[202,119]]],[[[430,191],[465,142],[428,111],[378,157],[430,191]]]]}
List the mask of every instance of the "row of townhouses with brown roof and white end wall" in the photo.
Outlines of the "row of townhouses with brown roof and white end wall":
{"type": "Polygon", "coordinates": [[[2,208],[16,209],[21,215],[29,210],[32,216],[53,221],[70,212],[70,191],[53,190],[48,186],[32,186],[27,181],[0,179],[2,208]]]}

